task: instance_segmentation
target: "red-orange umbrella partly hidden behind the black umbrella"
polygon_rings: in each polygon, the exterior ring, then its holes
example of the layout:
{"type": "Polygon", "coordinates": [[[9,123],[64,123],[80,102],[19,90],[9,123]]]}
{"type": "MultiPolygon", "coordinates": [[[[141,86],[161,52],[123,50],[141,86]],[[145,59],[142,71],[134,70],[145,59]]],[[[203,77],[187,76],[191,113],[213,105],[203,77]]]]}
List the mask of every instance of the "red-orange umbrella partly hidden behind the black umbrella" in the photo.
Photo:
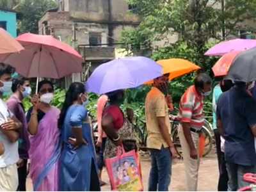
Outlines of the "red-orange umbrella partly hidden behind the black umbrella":
{"type": "Polygon", "coordinates": [[[240,51],[232,51],[224,54],[220,60],[218,60],[212,67],[212,71],[215,77],[227,76],[228,70],[232,64],[232,61],[236,58],[240,51]]]}

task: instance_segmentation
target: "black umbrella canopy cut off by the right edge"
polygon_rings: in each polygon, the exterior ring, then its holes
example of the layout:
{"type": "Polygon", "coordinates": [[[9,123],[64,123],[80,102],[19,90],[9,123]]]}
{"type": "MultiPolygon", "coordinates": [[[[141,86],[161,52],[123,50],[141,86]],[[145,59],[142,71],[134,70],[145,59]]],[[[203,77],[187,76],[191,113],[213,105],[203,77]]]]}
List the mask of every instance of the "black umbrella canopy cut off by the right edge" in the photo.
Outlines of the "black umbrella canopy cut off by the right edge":
{"type": "Polygon", "coordinates": [[[233,61],[227,79],[245,83],[256,80],[256,48],[241,52],[233,61]]]}

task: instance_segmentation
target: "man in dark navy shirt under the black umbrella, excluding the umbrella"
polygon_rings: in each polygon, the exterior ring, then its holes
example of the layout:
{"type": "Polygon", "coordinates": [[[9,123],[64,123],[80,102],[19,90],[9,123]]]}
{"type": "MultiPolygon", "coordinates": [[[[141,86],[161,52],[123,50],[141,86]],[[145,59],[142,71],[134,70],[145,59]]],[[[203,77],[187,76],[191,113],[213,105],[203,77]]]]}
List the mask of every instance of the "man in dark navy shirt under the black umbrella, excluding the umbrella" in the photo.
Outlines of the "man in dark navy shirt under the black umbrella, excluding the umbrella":
{"type": "Polygon", "coordinates": [[[248,186],[243,175],[256,173],[256,100],[249,89],[250,84],[236,83],[217,104],[218,129],[225,138],[228,191],[248,186]]]}

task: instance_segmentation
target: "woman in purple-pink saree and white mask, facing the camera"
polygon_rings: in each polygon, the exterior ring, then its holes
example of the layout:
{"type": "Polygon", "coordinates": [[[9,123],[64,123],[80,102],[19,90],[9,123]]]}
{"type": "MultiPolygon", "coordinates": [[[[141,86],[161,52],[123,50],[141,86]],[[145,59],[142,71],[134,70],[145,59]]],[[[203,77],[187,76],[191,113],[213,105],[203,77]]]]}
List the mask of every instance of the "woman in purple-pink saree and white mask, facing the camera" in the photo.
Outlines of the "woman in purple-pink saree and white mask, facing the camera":
{"type": "Polygon", "coordinates": [[[34,191],[58,191],[58,164],[60,159],[60,110],[50,105],[54,88],[50,81],[41,81],[39,95],[28,111],[30,175],[34,191]]]}

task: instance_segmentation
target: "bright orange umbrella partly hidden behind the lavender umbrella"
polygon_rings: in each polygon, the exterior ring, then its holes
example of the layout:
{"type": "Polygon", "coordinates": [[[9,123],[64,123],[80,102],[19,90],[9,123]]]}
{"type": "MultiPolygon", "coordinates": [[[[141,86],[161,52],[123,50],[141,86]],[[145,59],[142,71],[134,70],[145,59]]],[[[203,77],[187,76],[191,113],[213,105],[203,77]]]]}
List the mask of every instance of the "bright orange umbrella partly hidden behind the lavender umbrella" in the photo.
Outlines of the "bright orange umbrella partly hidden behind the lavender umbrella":
{"type": "MultiPolygon", "coordinates": [[[[157,61],[159,65],[163,67],[163,74],[170,74],[169,80],[175,79],[180,76],[189,74],[195,70],[200,69],[198,65],[184,60],[184,59],[169,59],[169,60],[159,60],[157,61]]],[[[146,84],[152,84],[153,81],[149,81],[146,84]]]]}

